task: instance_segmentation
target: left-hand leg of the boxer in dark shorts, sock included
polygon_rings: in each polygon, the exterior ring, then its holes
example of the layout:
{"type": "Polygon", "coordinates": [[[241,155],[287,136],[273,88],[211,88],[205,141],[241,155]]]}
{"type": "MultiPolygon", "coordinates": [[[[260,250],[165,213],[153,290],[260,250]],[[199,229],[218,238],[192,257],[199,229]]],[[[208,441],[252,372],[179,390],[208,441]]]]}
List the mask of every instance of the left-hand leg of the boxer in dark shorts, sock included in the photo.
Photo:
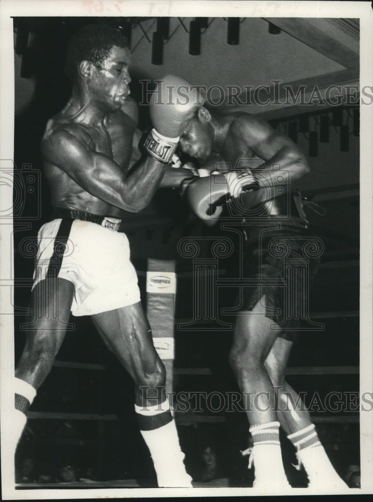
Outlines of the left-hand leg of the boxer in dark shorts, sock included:
{"type": "Polygon", "coordinates": [[[255,486],[281,490],[290,485],[282,464],[275,392],[264,366],[279,331],[271,329],[273,321],[265,313],[263,297],[251,311],[237,316],[230,363],[244,402],[250,396],[247,417],[254,440],[255,486]]]}

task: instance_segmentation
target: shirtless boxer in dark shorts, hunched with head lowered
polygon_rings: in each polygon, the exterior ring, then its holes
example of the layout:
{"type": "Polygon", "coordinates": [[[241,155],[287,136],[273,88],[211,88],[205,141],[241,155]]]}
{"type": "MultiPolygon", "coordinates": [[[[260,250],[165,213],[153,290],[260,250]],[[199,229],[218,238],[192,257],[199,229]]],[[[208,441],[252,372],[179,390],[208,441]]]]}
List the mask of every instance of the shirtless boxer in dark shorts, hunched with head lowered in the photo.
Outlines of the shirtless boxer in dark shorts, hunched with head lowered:
{"type": "MultiPolygon", "coordinates": [[[[297,237],[307,236],[306,225],[301,217],[301,209],[288,195],[291,193],[291,183],[309,172],[308,161],[289,138],[255,116],[245,112],[218,115],[205,106],[201,106],[196,115],[184,124],[179,147],[197,160],[202,168],[208,166],[209,159],[214,156],[220,156],[222,162],[229,166],[224,168],[227,174],[219,176],[220,180],[215,185],[211,183],[211,178],[186,182],[185,195],[199,217],[211,221],[214,217],[211,213],[219,209],[214,204],[224,204],[227,194],[231,198],[236,197],[233,202],[237,201],[246,189],[249,191],[242,198],[244,205],[247,204],[253,210],[253,206],[262,204],[259,214],[262,223],[259,226],[250,225],[250,216],[245,212],[244,277],[259,281],[263,279],[263,284],[260,287],[243,288],[230,353],[230,363],[244,402],[247,402],[245,396],[253,396],[247,408],[247,417],[254,440],[252,461],[255,465],[255,486],[264,491],[290,487],[281,458],[281,424],[297,449],[298,459],[309,478],[309,486],[314,490],[344,489],[346,485],[326,456],[309,413],[299,411],[286,397],[286,394],[291,395],[292,401],[298,402],[299,406],[298,394],[285,382],[286,365],[293,343],[291,333],[299,321],[287,319],[285,324],[281,322],[279,326],[284,312],[284,262],[283,258],[276,258],[268,250],[271,239],[280,237],[290,246],[287,259],[302,258],[304,239],[300,241],[297,237]],[[243,162],[237,164],[240,160],[243,162]],[[235,171],[237,166],[247,169],[235,171]],[[284,180],[289,183],[284,183],[284,180]],[[271,195],[274,193],[271,189],[276,190],[280,185],[282,190],[288,190],[287,193],[283,192],[285,194],[278,197],[271,195]],[[281,220],[289,207],[290,217],[281,220]],[[272,230],[268,231],[269,228],[272,230]],[[265,233],[261,233],[266,229],[265,233]],[[279,280],[281,286],[268,285],[271,279],[279,280]],[[274,309],[280,313],[274,313],[274,309]],[[292,330],[287,332],[289,328],[292,330]],[[278,411],[275,406],[276,388],[278,411]]],[[[231,215],[237,217],[241,206],[231,203],[232,208],[231,215]]],[[[255,211],[251,214],[258,216],[255,211]]],[[[318,260],[310,259],[309,264],[311,280],[317,270],[318,260]]],[[[288,289],[286,292],[289,294],[288,289]]],[[[292,294],[294,296],[297,293],[292,294]]],[[[296,298],[298,305],[305,300],[305,296],[296,298]]]]}

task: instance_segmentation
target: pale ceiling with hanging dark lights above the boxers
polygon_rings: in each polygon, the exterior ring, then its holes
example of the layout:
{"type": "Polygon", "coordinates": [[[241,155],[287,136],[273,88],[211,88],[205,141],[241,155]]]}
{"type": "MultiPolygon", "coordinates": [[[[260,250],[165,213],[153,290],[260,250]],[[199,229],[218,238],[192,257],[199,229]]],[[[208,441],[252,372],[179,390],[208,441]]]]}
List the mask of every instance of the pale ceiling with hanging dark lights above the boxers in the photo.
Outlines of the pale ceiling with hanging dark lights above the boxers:
{"type": "MultiPolygon", "coordinates": [[[[226,95],[238,94],[241,102],[250,102],[245,86],[252,86],[251,96],[262,85],[268,85],[273,93],[274,80],[281,80],[280,101],[284,97],[284,84],[291,84],[294,90],[306,85],[306,96],[315,85],[324,96],[326,88],[332,84],[358,84],[358,19],[243,18],[239,44],[228,45],[227,19],[209,18],[198,56],[192,56],[188,51],[189,34],[186,30],[189,30],[192,19],[170,18],[170,37],[164,42],[163,64],[159,66],[151,64],[149,42],[156,28],[155,18],[140,21],[140,26],[133,28],[132,71],[136,77],[155,79],[169,73],[177,74],[193,84],[219,85],[226,95]],[[281,33],[270,34],[268,22],[279,27],[281,33]],[[239,89],[232,91],[228,86],[239,89]]],[[[211,93],[211,100],[219,102],[220,96],[221,92],[216,90],[215,94],[211,93]]],[[[291,103],[283,102],[278,105],[273,102],[267,105],[254,103],[244,108],[265,118],[309,111],[309,106],[294,108],[291,103]]]]}

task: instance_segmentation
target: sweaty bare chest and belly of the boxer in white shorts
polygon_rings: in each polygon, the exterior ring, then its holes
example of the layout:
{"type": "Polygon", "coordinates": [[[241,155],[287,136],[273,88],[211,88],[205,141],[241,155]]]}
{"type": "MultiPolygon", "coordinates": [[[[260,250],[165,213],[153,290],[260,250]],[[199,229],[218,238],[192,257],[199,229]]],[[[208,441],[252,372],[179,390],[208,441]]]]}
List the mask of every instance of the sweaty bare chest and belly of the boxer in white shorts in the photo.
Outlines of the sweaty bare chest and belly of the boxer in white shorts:
{"type": "MultiPolygon", "coordinates": [[[[44,140],[56,130],[65,130],[79,140],[88,150],[103,154],[113,160],[126,174],[131,164],[134,120],[118,110],[105,116],[100,126],[75,121],[63,110],[47,123],[44,140]]],[[[124,216],[118,207],[95,197],[85,187],[76,183],[59,167],[44,162],[53,207],[76,209],[104,216],[124,216]]]]}

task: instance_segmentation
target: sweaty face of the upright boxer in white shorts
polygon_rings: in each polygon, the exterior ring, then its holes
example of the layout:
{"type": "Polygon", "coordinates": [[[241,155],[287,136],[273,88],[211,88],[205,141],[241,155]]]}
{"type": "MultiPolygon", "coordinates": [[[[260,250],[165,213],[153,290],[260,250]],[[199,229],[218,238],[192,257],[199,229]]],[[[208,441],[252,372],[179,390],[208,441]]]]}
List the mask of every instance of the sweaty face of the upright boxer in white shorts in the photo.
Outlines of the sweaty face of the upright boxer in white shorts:
{"type": "Polygon", "coordinates": [[[114,46],[101,66],[92,67],[90,90],[96,102],[111,110],[121,108],[129,95],[128,73],[130,53],[128,49],[114,46]]]}

